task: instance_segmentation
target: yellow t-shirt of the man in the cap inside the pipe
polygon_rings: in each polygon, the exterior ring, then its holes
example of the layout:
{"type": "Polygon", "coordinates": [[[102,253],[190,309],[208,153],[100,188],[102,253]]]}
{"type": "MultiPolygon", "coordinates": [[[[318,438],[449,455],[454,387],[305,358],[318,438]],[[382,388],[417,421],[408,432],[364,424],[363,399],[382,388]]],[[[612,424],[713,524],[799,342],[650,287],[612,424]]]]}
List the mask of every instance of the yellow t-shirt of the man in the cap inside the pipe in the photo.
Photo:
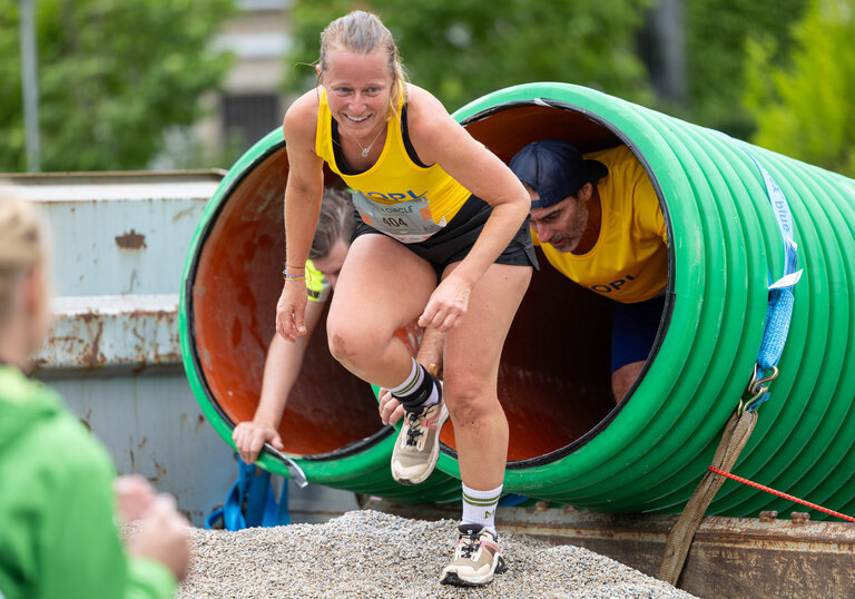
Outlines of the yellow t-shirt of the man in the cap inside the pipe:
{"type": "Polygon", "coordinates": [[[661,294],[668,284],[667,233],[662,210],[643,167],[626,146],[584,156],[609,174],[597,183],[602,207],[600,236],[586,254],[540,244],[564,276],[617,302],[633,304],[661,294]]]}

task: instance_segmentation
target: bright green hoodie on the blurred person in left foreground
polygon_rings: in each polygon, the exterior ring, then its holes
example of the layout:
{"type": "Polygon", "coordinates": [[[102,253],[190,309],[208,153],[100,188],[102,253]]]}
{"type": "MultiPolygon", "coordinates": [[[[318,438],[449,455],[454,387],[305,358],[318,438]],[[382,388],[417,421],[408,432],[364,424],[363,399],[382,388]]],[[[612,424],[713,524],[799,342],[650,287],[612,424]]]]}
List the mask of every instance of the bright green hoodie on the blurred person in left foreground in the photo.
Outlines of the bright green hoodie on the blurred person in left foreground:
{"type": "Polygon", "coordinates": [[[125,553],[107,451],[52,393],[37,395],[17,405],[0,396],[0,420],[20,420],[14,439],[0,445],[0,592],[6,599],[173,597],[175,579],[165,566],[125,553]]]}

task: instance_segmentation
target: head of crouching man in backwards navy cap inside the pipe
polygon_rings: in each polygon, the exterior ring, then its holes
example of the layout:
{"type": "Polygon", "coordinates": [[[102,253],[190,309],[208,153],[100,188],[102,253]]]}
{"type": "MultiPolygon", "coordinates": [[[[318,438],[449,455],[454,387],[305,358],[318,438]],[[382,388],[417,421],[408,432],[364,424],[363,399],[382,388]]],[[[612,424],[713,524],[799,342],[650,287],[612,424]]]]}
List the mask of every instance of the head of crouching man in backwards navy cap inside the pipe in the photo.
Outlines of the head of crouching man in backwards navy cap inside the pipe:
{"type": "Polygon", "coordinates": [[[534,141],[509,164],[531,197],[531,227],[541,243],[572,252],[589,223],[589,202],[597,181],[609,174],[606,165],[588,160],[561,139],[534,141]]]}

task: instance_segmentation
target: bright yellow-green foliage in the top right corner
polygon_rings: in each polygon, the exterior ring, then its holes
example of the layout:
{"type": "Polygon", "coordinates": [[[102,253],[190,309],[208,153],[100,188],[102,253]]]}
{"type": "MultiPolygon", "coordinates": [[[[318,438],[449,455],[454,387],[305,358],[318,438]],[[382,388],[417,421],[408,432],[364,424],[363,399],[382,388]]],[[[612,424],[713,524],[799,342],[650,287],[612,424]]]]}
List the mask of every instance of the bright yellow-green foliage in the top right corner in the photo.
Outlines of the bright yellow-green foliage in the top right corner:
{"type": "Polygon", "coordinates": [[[812,1],[794,35],[789,62],[770,71],[758,65],[774,41],[749,45],[753,141],[855,177],[855,2],[812,1]]]}

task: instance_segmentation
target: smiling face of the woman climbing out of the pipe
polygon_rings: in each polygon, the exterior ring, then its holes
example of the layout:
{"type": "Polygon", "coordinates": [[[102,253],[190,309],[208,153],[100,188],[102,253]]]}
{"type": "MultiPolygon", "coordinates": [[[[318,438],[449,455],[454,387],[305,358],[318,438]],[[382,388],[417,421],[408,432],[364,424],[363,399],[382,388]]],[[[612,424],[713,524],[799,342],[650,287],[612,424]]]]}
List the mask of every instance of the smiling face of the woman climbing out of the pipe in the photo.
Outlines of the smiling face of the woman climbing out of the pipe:
{"type": "Polygon", "coordinates": [[[385,126],[394,79],[382,49],[367,55],[331,50],[322,80],[342,132],[370,141],[385,126]]]}

